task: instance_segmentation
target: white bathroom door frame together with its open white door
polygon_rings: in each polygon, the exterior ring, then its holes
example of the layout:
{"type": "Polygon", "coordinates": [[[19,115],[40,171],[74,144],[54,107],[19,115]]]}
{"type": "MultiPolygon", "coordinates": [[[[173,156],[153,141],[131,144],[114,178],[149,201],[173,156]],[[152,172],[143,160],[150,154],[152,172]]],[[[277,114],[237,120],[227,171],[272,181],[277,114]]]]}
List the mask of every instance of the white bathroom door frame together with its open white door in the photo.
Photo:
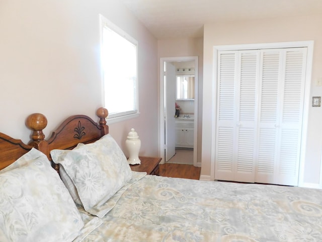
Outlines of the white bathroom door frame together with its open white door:
{"type": "MultiPolygon", "coordinates": [[[[194,144],[193,144],[193,164],[197,166],[197,147],[198,147],[198,56],[184,57],[162,57],[160,58],[160,156],[162,164],[170,159],[171,152],[175,150],[175,73],[174,63],[190,62],[194,64],[194,93],[193,115],[194,115],[194,144]],[[173,66],[173,67],[172,67],[173,66]],[[172,71],[170,71],[172,70],[172,71]],[[170,79],[172,81],[170,81],[170,79]],[[169,153],[170,152],[170,153],[169,153]],[[170,157],[170,158],[169,158],[170,157]]],[[[175,153],[174,153],[175,154],[175,153]]],[[[174,155],[173,154],[173,155],[174,155]]]]}

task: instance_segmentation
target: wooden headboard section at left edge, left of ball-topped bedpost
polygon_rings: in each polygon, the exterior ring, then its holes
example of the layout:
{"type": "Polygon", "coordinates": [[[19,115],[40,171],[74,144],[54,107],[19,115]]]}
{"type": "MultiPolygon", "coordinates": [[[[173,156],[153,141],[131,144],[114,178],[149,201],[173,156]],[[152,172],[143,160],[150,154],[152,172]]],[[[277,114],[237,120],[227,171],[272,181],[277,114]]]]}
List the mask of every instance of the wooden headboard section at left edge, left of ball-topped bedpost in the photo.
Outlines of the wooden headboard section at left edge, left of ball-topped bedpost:
{"type": "Polygon", "coordinates": [[[16,140],[0,133],[0,170],[16,161],[31,149],[32,146],[24,144],[21,140],[16,140]]]}

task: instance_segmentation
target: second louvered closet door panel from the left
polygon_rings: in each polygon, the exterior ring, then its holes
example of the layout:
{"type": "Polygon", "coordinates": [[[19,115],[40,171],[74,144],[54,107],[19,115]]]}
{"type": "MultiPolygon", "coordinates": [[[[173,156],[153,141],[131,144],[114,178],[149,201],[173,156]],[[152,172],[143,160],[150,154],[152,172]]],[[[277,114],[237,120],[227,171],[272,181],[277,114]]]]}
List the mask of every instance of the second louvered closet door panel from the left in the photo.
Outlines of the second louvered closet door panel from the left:
{"type": "Polygon", "coordinates": [[[254,182],[255,180],[255,145],[257,130],[257,103],[259,78],[258,50],[239,51],[235,125],[235,180],[254,182]],[[238,101],[239,100],[239,101],[238,101]]]}

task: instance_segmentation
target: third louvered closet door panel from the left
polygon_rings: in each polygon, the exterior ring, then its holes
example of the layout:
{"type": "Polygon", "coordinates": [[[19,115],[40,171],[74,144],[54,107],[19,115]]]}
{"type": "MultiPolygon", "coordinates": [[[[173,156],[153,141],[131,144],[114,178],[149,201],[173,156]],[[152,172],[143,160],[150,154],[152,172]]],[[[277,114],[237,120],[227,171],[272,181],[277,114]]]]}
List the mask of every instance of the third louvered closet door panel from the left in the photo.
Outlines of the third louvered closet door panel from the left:
{"type": "Polygon", "coordinates": [[[280,51],[265,50],[261,54],[259,131],[257,143],[256,180],[273,183],[278,138],[276,126],[279,123],[280,51]]]}

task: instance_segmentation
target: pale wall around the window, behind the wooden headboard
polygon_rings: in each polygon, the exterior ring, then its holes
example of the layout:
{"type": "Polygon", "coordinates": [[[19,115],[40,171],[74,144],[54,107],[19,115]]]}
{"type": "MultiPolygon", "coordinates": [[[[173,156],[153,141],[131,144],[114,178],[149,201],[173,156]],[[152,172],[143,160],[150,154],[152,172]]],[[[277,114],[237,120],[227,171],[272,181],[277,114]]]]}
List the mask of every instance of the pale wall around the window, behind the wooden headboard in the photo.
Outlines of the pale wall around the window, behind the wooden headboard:
{"type": "Polygon", "coordinates": [[[140,116],[110,125],[110,134],[127,154],[125,139],[135,128],[140,154],[158,155],[157,41],[118,0],[0,2],[0,132],[28,142],[25,119],[33,112],[46,115],[47,138],[69,115],[98,121],[99,14],[137,39],[139,50],[140,116]]]}

